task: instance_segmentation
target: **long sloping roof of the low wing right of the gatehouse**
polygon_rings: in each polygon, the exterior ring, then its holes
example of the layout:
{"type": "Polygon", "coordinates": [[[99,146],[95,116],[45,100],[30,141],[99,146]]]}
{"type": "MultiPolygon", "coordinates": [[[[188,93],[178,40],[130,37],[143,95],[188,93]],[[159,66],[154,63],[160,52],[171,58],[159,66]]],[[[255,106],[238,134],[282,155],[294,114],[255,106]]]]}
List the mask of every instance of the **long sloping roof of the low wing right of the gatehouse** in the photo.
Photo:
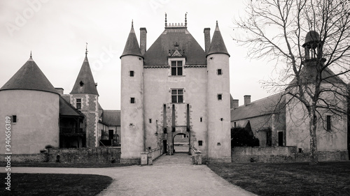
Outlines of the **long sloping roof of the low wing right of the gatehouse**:
{"type": "Polygon", "coordinates": [[[231,121],[253,118],[255,116],[263,116],[273,114],[283,109],[286,100],[281,98],[283,93],[277,93],[267,98],[253,101],[247,105],[241,105],[235,109],[231,109],[231,121]],[[279,105],[277,105],[279,103],[279,105]]]}

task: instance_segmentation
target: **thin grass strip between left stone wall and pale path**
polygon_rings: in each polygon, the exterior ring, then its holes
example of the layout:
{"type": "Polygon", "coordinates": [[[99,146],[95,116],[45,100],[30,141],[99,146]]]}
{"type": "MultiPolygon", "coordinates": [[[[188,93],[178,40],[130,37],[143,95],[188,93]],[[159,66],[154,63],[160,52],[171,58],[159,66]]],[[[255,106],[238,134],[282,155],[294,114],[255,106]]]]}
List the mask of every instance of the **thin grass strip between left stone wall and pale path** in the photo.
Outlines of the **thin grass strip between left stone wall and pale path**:
{"type": "MultiPolygon", "coordinates": [[[[1,163],[4,167],[6,163],[1,163]]],[[[134,164],[116,163],[11,163],[11,167],[75,167],[75,168],[101,168],[101,167],[125,167],[134,164]]]]}

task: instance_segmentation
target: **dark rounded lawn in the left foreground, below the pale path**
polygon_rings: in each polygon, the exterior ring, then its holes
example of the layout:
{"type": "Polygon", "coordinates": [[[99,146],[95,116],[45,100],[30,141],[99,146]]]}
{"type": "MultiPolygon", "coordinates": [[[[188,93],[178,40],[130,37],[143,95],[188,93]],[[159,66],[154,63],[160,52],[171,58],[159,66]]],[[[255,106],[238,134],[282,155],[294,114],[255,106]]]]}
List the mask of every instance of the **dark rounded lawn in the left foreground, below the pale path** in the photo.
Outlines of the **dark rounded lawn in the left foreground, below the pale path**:
{"type": "MultiPolygon", "coordinates": [[[[0,176],[6,177],[5,173],[0,176]]],[[[0,195],[97,195],[111,182],[109,176],[92,174],[11,173],[10,191],[1,183],[0,195]]]]}

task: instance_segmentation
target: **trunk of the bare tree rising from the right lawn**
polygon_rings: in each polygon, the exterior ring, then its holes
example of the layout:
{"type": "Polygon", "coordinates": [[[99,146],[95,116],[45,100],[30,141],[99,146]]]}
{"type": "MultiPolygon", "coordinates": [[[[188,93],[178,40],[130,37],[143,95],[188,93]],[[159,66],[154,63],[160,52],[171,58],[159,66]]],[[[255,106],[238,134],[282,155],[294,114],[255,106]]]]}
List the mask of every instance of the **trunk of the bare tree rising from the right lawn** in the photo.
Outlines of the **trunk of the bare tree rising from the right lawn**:
{"type": "Polygon", "coordinates": [[[310,165],[318,164],[318,155],[317,155],[317,116],[314,108],[311,109],[310,116],[310,165]]]}

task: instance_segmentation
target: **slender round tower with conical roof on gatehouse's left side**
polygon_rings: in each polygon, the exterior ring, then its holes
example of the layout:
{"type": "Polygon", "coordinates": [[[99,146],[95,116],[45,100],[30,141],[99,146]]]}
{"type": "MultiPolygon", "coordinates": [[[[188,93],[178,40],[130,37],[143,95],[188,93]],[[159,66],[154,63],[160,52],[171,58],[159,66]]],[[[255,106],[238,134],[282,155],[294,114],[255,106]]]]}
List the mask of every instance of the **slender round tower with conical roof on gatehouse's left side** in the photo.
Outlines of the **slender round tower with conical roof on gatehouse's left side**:
{"type": "Polygon", "coordinates": [[[139,162],[144,140],[144,57],[134,27],[121,59],[121,162],[139,162]]]}

